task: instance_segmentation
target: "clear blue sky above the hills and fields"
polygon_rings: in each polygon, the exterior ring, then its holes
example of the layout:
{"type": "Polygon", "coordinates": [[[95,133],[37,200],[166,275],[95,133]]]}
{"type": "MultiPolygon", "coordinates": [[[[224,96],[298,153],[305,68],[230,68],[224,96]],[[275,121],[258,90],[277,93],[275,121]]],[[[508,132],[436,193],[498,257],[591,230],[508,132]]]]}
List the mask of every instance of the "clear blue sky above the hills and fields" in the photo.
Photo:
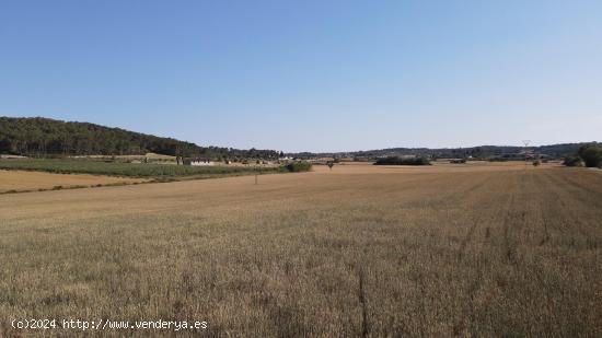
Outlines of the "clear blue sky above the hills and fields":
{"type": "Polygon", "coordinates": [[[285,151],[601,141],[602,1],[0,1],[0,115],[285,151]]]}

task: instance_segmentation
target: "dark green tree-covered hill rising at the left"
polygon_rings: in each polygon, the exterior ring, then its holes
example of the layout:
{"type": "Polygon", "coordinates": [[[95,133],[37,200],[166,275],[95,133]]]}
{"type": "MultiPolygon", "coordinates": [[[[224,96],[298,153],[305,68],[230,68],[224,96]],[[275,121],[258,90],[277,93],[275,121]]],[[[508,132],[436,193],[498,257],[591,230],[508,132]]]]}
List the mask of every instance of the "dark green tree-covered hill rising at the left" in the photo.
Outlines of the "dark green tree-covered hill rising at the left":
{"type": "Polygon", "coordinates": [[[0,153],[26,156],[139,155],[276,159],[274,150],[200,147],[172,138],[49,118],[0,117],[0,153]]]}

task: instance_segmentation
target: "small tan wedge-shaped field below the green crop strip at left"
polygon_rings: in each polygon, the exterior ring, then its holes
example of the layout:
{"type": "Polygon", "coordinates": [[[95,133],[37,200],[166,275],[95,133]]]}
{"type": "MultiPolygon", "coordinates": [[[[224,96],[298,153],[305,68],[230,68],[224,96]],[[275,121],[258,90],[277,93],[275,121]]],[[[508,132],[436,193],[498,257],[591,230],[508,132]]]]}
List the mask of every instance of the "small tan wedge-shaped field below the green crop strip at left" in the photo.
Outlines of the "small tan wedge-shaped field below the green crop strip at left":
{"type": "Polygon", "coordinates": [[[96,185],[129,184],[141,179],[94,176],[86,174],[49,174],[40,172],[1,171],[0,194],[7,191],[30,191],[53,188],[88,187],[96,185]]]}

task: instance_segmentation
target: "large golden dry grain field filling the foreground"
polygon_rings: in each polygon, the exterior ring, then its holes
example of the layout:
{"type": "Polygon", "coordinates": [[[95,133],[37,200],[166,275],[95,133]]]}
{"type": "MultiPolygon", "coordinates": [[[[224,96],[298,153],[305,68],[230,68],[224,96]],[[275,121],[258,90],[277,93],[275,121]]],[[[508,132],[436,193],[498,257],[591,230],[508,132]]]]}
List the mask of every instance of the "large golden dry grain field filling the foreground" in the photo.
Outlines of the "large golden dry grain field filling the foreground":
{"type": "Polygon", "coordinates": [[[0,336],[18,334],[14,317],[198,319],[247,337],[602,336],[601,172],[349,164],[258,183],[0,196],[0,336]]]}

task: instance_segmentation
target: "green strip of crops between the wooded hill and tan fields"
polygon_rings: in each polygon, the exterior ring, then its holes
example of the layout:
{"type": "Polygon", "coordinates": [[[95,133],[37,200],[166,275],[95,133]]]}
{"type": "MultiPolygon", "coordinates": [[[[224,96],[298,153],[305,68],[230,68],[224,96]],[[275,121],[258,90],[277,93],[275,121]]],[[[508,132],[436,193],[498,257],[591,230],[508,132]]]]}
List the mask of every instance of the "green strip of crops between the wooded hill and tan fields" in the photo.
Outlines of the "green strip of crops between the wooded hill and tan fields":
{"type": "Polygon", "coordinates": [[[0,170],[38,171],[57,174],[93,174],[125,177],[171,178],[211,177],[248,173],[273,173],[278,167],[250,166],[187,166],[148,163],[119,163],[90,160],[7,160],[0,161],[0,170]]]}

